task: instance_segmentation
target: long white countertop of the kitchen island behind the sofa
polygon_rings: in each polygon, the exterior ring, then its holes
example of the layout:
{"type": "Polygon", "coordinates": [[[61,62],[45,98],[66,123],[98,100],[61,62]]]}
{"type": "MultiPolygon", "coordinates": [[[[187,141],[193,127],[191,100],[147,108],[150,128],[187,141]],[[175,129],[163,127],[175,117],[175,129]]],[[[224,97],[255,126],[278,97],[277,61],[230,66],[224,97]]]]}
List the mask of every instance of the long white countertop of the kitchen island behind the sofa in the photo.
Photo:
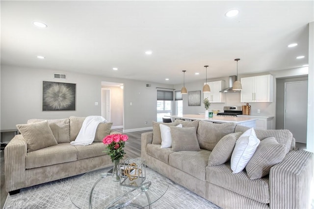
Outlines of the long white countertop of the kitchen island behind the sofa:
{"type": "Polygon", "coordinates": [[[218,123],[245,123],[250,121],[256,121],[258,119],[252,117],[232,117],[232,116],[213,116],[212,118],[207,118],[205,115],[196,115],[196,114],[186,114],[186,115],[171,115],[171,118],[177,119],[188,119],[188,120],[203,120],[209,122],[218,122],[218,123]]]}

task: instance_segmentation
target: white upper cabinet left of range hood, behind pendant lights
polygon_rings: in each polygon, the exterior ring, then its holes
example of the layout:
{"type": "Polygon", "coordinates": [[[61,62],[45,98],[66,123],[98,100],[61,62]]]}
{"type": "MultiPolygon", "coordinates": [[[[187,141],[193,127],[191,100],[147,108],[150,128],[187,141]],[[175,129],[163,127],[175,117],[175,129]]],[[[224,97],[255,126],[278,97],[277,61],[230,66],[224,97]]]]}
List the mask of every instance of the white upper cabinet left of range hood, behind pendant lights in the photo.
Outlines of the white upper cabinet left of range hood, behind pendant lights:
{"type": "Polygon", "coordinates": [[[210,103],[225,103],[225,95],[219,92],[225,88],[225,81],[218,80],[207,82],[207,84],[209,84],[210,92],[204,92],[204,98],[208,97],[210,103]]]}

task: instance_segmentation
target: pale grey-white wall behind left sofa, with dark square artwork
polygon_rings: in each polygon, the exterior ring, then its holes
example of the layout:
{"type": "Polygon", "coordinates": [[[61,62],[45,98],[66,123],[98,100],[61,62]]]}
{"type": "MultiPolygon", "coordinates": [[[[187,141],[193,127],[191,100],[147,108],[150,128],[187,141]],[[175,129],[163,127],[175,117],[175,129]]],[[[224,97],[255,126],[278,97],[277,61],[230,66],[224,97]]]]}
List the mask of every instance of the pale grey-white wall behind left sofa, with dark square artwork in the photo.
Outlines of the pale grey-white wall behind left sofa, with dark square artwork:
{"type": "Polygon", "coordinates": [[[101,115],[101,82],[124,83],[124,129],[150,129],[157,120],[156,87],[173,88],[173,85],[144,81],[107,78],[73,72],[1,65],[1,130],[15,129],[28,119],[58,119],[74,116],[101,115]],[[65,73],[67,79],[53,79],[53,73],[65,73]],[[42,111],[43,81],[76,83],[75,111],[42,111]],[[99,105],[95,105],[98,102],[99,105]],[[133,105],[130,105],[132,102],[133,105]],[[145,124],[145,121],[148,123],[145,124]]]}

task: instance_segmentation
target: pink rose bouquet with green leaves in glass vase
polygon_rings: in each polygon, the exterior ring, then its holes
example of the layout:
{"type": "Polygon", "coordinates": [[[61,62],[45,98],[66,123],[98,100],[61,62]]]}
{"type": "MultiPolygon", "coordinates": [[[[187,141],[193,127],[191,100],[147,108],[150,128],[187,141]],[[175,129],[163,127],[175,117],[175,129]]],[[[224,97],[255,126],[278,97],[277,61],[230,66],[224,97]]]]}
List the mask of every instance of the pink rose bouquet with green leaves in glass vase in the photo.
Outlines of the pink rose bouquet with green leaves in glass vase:
{"type": "Polygon", "coordinates": [[[103,143],[107,145],[105,152],[110,156],[112,162],[116,159],[122,159],[123,155],[126,154],[123,148],[128,139],[129,136],[125,134],[111,134],[103,139],[103,143]]]}

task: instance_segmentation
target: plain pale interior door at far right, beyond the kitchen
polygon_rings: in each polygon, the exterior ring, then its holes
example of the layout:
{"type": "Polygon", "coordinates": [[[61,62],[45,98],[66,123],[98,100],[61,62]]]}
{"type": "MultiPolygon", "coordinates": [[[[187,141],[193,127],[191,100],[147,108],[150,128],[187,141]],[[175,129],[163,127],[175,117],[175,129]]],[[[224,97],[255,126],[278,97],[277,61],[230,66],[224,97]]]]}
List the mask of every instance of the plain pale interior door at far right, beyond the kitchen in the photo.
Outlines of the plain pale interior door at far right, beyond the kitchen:
{"type": "Polygon", "coordinates": [[[284,129],[292,132],[296,142],[306,144],[308,116],[308,81],[285,83],[284,129]]]}

